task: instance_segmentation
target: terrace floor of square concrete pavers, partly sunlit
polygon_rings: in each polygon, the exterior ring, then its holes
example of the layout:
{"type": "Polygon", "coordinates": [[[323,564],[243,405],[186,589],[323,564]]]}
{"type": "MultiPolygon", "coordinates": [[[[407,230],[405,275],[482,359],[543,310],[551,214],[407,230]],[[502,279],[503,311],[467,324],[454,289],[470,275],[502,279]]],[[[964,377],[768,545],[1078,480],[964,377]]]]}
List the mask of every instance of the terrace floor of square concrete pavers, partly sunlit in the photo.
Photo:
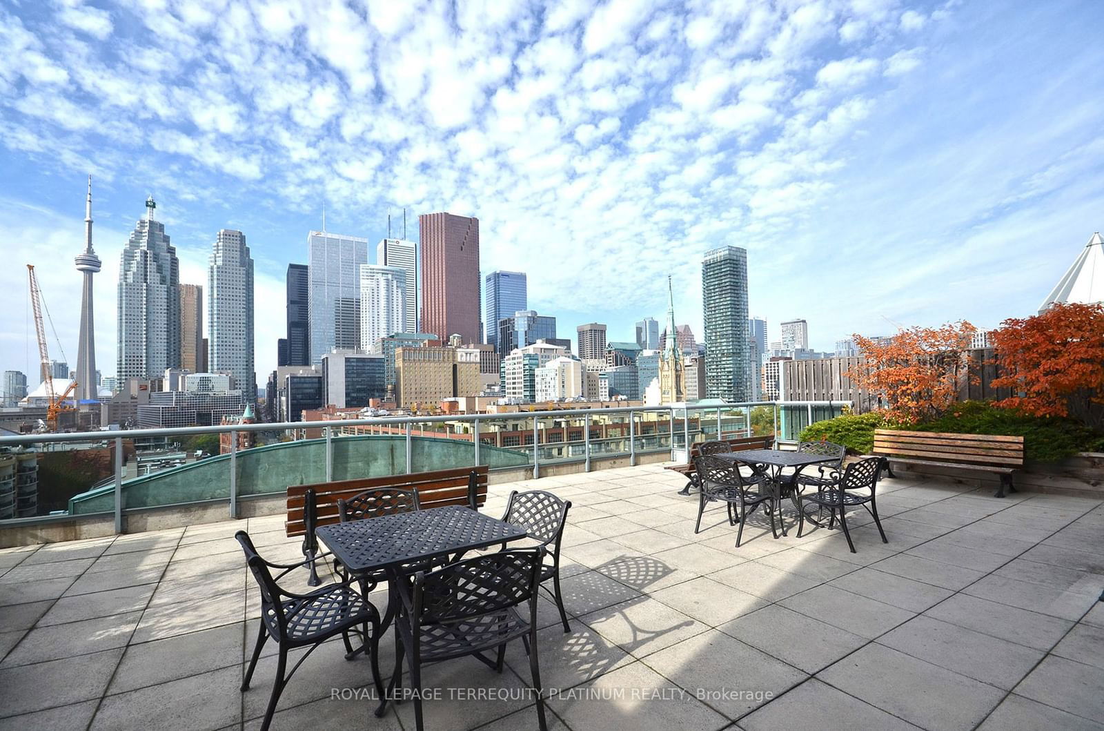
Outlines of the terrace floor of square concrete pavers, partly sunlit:
{"type": "MultiPolygon", "coordinates": [[[[888,479],[890,542],[856,516],[852,554],[839,530],[773,540],[761,518],[735,549],[716,507],[696,536],[681,484],[649,465],[491,487],[496,517],[513,487],[573,502],[571,633],[540,605],[550,727],[1104,729],[1101,501],[888,479]]],[[[268,560],[299,557],[279,516],[0,551],[0,729],[257,728],[275,658],[238,691],[258,613],[242,528],[268,560]]],[[[432,666],[426,729],[535,728],[514,645],[502,675],[432,666]]],[[[331,699],[369,685],[330,642],[273,728],[412,729],[408,702],[376,719],[331,699]]]]}

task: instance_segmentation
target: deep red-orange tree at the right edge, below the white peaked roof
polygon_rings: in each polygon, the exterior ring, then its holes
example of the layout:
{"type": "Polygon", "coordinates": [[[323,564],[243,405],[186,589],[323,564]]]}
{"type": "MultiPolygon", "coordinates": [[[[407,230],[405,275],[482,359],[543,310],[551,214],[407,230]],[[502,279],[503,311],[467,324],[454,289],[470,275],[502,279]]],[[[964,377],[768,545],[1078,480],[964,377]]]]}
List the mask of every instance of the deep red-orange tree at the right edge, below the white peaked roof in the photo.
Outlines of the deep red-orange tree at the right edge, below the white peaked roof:
{"type": "Polygon", "coordinates": [[[1000,373],[992,385],[1016,395],[996,406],[1104,426],[1104,306],[1055,304],[1001,325],[990,333],[1000,373]]]}

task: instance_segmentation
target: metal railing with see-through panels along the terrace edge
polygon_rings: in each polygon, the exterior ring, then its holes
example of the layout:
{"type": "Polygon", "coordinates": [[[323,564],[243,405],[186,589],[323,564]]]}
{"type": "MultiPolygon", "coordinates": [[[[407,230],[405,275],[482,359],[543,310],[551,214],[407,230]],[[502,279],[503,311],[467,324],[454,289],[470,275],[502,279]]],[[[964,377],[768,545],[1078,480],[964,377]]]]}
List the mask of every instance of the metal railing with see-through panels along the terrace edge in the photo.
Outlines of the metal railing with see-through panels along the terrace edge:
{"type": "Polygon", "coordinates": [[[114,516],[123,532],[128,513],[212,502],[225,502],[235,518],[243,500],[282,494],[288,485],[468,465],[538,478],[571,463],[590,472],[607,458],[634,465],[641,455],[667,453],[684,459],[689,445],[705,439],[755,433],[793,442],[846,405],[565,409],[0,436],[0,529],[114,516]],[[219,435],[223,453],[197,459],[188,441],[202,435],[219,435]],[[17,454],[4,455],[6,447],[17,454]],[[35,456],[20,456],[28,453],[35,456]]]}

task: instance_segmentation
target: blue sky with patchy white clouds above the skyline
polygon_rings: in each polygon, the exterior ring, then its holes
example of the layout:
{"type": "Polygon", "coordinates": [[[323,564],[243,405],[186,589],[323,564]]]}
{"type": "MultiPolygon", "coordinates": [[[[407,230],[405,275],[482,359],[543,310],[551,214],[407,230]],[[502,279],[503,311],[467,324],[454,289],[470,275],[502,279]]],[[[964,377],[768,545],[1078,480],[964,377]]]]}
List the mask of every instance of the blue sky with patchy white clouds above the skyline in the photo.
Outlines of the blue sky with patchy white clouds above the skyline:
{"type": "Polygon", "coordinates": [[[726,244],[772,338],[792,317],[821,349],[990,327],[1104,229],[1102,21],[1062,0],[6,0],[0,368],[36,370],[25,263],[75,366],[89,172],[105,374],[149,193],[183,282],[245,232],[261,383],[323,200],[373,244],[389,210],[477,215],[482,268],[528,272],[561,336],[631,339],[670,274],[700,338],[701,257],[726,244]]]}

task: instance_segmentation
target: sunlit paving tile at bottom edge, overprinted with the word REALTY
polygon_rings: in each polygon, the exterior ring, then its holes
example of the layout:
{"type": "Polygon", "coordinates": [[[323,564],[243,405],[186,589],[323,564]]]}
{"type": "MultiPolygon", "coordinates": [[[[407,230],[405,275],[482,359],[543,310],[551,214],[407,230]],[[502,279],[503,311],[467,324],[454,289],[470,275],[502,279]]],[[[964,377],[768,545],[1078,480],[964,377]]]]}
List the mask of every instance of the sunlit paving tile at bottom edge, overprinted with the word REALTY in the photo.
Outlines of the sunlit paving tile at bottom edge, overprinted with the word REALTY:
{"type": "Polygon", "coordinates": [[[564,691],[550,704],[570,728],[587,731],[713,730],[730,722],[643,663],[564,691]]]}

